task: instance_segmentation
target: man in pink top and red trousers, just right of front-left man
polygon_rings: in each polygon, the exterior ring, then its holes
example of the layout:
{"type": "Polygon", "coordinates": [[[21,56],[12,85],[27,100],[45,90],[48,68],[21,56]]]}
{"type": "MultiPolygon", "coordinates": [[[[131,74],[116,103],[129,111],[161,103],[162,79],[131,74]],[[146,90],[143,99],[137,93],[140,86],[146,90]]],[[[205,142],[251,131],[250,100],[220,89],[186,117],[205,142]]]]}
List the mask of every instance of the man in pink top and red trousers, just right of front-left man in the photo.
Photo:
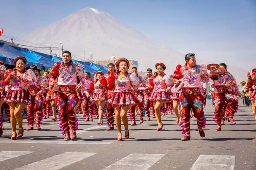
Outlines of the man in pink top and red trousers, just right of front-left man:
{"type": "Polygon", "coordinates": [[[84,100],[81,101],[82,110],[84,113],[85,121],[93,121],[92,118],[92,106],[94,104],[92,98],[87,98],[86,94],[90,91],[90,84],[91,84],[91,74],[90,72],[85,72],[85,86],[82,87],[82,94],[84,95],[84,100]],[[90,112],[89,112],[90,109],[90,112]],[[89,114],[90,113],[90,114],[89,114]]]}

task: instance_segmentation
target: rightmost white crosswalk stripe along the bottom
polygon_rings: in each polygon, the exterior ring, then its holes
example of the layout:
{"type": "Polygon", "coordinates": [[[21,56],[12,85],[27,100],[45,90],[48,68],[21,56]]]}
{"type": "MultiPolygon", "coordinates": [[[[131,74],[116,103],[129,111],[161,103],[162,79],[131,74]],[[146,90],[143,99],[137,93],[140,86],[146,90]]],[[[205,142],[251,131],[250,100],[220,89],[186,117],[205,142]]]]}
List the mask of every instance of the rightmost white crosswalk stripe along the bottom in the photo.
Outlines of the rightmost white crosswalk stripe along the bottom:
{"type": "Polygon", "coordinates": [[[234,170],[234,155],[199,155],[190,170],[234,170]]]}

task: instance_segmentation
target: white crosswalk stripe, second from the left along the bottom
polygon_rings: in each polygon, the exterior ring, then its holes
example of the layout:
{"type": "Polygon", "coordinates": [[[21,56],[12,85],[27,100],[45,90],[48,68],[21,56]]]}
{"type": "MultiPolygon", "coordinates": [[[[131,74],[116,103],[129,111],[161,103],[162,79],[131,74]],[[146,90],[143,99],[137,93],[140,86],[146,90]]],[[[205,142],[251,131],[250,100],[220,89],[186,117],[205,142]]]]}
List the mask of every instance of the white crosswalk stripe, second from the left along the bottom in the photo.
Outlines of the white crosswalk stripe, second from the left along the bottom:
{"type": "Polygon", "coordinates": [[[62,154],[22,166],[15,170],[58,170],[95,154],[96,153],[87,152],[64,152],[62,154]]]}

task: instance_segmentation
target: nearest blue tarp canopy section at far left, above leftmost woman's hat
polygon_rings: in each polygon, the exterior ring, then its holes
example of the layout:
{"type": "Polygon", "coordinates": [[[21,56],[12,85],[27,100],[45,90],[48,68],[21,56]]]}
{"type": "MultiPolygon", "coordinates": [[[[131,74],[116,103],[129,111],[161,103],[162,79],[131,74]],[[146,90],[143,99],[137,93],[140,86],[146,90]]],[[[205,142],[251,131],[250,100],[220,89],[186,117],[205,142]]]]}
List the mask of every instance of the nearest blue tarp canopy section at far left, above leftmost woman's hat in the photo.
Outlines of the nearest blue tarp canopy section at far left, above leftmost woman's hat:
{"type": "Polygon", "coordinates": [[[2,60],[3,62],[5,62],[5,64],[14,65],[13,59],[17,56],[23,56],[27,59],[26,67],[30,67],[31,65],[35,64],[38,67],[38,69],[43,69],[43,64],[24,55],[20,51],[14,49],[12,46],[7,45],[2,41],[0,41],[0,54],[5,57],[5,60],[2,60]]]}

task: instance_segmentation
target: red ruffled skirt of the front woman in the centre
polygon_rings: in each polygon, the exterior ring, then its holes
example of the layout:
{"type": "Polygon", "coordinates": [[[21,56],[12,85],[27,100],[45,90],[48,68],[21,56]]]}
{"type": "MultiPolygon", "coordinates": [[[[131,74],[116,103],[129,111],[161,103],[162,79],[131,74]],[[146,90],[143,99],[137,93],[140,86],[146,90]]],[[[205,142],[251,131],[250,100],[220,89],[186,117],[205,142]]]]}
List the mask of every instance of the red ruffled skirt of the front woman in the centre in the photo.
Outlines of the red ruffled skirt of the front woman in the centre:
{"type": "Polygon", "coordinates": [[[112,98],[108,100],[113,106],[130,106],[135,105],[136,99],[132,93],[129,92],[114,92],[112,98]]]}

